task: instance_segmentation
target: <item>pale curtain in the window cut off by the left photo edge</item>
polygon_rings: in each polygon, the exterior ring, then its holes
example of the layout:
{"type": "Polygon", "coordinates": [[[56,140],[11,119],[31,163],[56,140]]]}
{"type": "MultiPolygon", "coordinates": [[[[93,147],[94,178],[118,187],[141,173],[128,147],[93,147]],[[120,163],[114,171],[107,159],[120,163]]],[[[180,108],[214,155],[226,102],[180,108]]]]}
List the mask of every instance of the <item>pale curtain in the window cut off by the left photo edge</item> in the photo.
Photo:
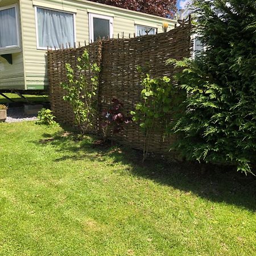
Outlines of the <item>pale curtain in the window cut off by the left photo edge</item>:
{"type": "Polygon", "coordinates": [[[0,11],[0,47],[18,45],[15,7],[0,11]]]}

